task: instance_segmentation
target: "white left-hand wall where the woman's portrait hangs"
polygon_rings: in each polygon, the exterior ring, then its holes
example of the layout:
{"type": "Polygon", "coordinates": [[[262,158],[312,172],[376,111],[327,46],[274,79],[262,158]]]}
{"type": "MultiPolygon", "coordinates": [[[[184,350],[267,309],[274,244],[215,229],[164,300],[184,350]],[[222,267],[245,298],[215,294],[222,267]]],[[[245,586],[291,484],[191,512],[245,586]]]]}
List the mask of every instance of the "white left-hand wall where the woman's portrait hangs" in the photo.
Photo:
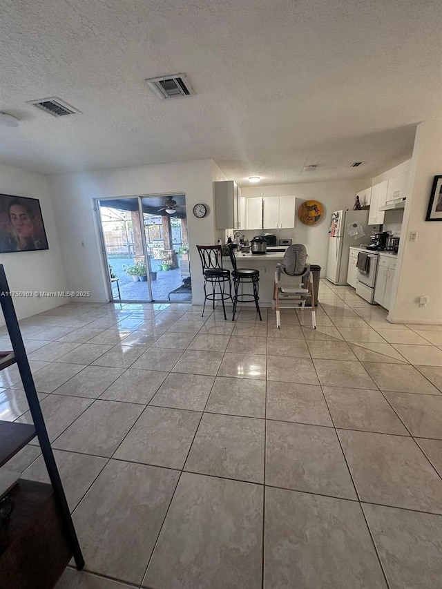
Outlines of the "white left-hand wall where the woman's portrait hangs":
{"type": "MultiPolygon", "coordinates": [[[[66,276],[46,177],[21,168],[0,166],[0,193],[39,199],[49,245],[49,249],[45,251],[0,253],[0,263],[5,267],[10,289],[66,291],[66,276]]],[[[41,313],[65,302],[66,299],[52,297],[14,298],[15,311],[19,318],[41,313]]],[[[0,313],[0,324],[3,323],[3,315],[0,313]]]]}

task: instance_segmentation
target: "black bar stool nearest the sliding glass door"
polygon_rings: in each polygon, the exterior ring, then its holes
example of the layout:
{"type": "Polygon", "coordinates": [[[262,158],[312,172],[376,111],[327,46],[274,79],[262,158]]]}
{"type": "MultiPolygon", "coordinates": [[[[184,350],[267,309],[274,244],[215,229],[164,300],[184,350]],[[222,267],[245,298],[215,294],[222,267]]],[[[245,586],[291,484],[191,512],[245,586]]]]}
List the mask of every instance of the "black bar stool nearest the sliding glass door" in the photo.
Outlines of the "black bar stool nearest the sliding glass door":
{"type": "Polygon", "coordinates": [[[232,300],[232,283],[230,271],[222,267],[222,247],[220,245],[197,245],[197,249],[200,254],[204,276],[204,305],[202,306],[201,316],[204,316],[206,300],[212,301],[213,309],[215,309],[215,300],[220,300],[224,311],[224,319],[227,320],[224,300],[232,300]],[[207,284],[212,285],[212,292],[207,292],[207,284]],[[226,291],[227,284],[229,284],[229,292],[226,291]],[[218,292],[216,290],[217,285],[218,292]]]}

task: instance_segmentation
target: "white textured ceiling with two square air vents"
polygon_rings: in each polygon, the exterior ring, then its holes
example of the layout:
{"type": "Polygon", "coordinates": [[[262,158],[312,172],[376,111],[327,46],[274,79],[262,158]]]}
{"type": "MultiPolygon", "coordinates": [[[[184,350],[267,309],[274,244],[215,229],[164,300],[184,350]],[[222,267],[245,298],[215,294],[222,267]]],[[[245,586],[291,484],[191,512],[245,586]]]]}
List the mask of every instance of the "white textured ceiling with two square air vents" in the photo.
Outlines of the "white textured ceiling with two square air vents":
{"type": "Polygon", "coordinates": [[[0,162],[59,173],[212,157],[242,185],[374,175],[442,115],[440,6],[0,0],[0,110],[21,119],[0,127],[0,162]],[[160,100],[144,82],[179,72],[195,96],[160,100]],[[52,96],[83,114],[26,104],[52,96]]]}

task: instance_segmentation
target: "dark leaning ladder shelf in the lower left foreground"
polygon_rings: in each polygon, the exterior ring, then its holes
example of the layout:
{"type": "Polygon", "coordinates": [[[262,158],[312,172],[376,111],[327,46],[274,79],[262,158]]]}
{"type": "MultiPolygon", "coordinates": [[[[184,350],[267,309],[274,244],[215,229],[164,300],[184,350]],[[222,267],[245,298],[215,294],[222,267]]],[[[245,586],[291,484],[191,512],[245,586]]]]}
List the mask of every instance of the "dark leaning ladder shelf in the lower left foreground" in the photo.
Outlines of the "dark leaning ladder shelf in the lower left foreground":
{"type": "Polygon", "coordinates": [[[50,589],[71,557],[78,569],[84,567],[84,559],[50,447],[2,264],[0,305],[12,344],[12,351],[0,352],[0,370],[17,364],[33,421],[33,424],[0,421],[0,466],[37,437],[50,479],[50,485],[20,479],[8,492],[15,507],[8,521],[0,522],[0,589],[50,589]]]}

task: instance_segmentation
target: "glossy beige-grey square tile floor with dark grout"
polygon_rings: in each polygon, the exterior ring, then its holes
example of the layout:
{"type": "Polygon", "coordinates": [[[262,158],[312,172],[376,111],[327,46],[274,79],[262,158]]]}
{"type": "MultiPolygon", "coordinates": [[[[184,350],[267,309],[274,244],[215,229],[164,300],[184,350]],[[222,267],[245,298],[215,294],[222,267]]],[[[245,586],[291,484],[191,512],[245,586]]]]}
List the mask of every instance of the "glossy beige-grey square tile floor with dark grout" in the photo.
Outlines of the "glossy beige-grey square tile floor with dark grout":
{"type": "MultiPolygon", "coordinates": [[[[183,304],[21,322],[86,559],[57,589],[440,588],[441,326],[319,300],[316,331],[183,304]]],[[[29,421],[17,368],[0,387],[29,421]]],[[[47,480],[36,443],[10,467],[47,480]]]]}

